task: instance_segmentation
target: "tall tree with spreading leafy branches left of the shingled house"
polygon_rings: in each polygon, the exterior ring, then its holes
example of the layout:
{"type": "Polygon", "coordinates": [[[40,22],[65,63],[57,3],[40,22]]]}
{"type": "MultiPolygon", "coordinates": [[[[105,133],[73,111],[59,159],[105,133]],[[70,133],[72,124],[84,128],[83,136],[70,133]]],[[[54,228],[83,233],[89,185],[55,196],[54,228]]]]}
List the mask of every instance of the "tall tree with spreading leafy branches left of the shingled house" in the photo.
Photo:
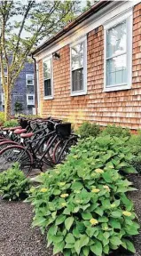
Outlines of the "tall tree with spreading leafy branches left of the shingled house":
{"type": "Polygon", "coordinates": [[[5,120],[11,116],[12,87],[29,53],[44,37],[51,36],[61,25],[74,19],[73,8],[79,1],[38,2],[0,1],[0,66],[5,120]]]}

